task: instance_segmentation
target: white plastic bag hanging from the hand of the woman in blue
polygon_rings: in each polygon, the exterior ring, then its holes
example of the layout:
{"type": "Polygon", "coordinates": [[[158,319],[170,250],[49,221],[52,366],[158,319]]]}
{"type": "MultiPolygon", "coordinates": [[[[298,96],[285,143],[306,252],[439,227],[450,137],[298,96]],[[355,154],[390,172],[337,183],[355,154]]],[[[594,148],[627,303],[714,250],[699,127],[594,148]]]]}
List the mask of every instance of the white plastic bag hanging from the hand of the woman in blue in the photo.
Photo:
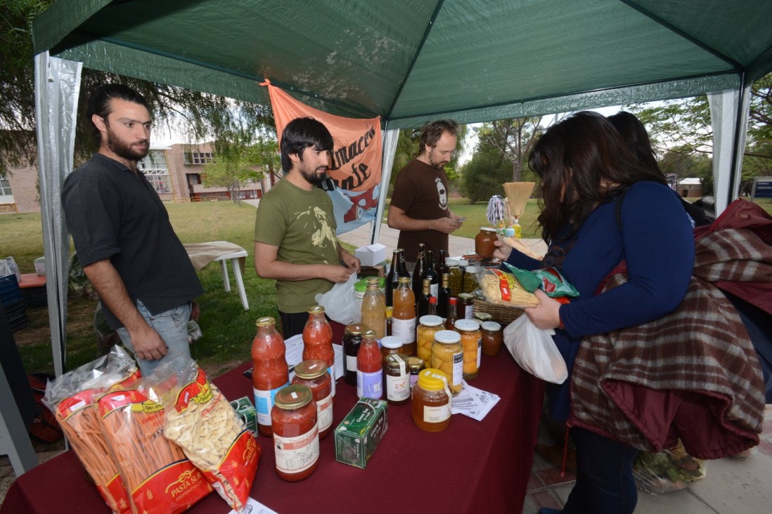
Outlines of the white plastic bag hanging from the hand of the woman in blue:
{"type": "Polygon", "coordinates": [[[520,368],[542,380],[562,384],[568,378],[568,368],[552,340],[554,333],[536,328],[523,314],[504,329],[504,344],[520,368]]]}

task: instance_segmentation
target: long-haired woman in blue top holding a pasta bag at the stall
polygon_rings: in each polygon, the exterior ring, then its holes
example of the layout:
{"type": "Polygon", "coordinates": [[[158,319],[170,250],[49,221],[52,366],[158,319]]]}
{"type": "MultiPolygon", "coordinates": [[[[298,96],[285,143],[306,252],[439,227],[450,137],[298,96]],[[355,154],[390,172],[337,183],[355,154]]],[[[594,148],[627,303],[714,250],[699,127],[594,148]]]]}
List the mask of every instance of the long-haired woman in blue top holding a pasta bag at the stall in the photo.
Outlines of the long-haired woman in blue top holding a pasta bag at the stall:
{"type": "MultiPolygon", "coordinates": [[[[540,304],[526,309],[538,328],[556,329],[554,341],[569,377],[562,385],[547,385],[547,398],[553,418],[564,421],[582,338],[674,310],[689,285],[694,240],[689,217],[665,177],[641,166],[604,116],[581,112],[551,126],[528,162],[541,180],[539,223],[547,255],[539,261],[504,245],[495,256],[528,270],[555,267],[581,294],[560,304],[537,291],[540,304]],[[628,282],[595,294],[621,260],[627,261],[628,282]]],[[[637,450],[578,427],[571,437],[577,481],[561,512],[633,512],[637,450]]]]}

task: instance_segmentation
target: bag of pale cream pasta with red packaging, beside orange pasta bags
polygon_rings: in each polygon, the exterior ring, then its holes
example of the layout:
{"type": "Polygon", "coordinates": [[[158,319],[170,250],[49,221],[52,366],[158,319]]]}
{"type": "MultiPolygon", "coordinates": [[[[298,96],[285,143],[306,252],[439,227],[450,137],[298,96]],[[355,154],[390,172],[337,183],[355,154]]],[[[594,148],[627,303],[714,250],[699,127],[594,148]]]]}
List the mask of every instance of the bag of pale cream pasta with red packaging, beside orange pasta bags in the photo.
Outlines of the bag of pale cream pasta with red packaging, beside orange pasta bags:
{"type": "Polygon", "coordinates": [[[154,372],[163,375],[174,370],[177,375],[170,394],[164,395],[164,435],[180,445],[215,491],[241,512],[249,501],[260,447],[204,370],[194,361],[175,364],[154,372]]]}

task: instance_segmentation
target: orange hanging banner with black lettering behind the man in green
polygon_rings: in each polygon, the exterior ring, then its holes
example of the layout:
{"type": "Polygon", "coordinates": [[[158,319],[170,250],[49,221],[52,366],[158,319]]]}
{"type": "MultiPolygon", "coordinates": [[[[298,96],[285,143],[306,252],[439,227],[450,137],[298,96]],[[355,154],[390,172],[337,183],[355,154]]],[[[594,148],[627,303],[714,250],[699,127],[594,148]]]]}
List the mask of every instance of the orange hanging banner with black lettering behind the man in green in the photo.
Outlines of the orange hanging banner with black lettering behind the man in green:
{"type": "Polygon", "coordinates": [[[333,200],[337,233],[353,230],[374,220],[381,188],[381,117],[355,119],[335,116],[306,106],[268,80],[261,86],[268,87],[279,147],[284,127],[295,118],[310,116],[330,130],[334,148],[327,176],[333,180],[335,190],[328,193],[333,200]]]}

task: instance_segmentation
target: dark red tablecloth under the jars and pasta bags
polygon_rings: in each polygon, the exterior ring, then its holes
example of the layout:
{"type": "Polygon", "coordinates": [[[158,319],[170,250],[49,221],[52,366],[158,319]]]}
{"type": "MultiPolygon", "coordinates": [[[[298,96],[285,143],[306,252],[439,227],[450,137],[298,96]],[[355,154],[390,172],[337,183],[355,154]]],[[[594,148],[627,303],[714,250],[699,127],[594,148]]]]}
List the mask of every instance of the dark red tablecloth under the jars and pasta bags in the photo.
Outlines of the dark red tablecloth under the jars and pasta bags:
{"type": "MultiPolygon", "coordinates": [[[[215,379],[229,399],[252,395],[242,365],[215,379]]],[[[334,434],[321,444],[317,471],[303,482],[284,482],[274,469],[273,445],[262,448],[252,497],[280,514],[287,512],[521,512],[536,445],[543,382],[520,369],[506,349],[482,357],[477,388],[501,400],[482,422],[453,415],[443,432],[423,432],[411,419],[410,402],[389,405],[388,431],[367,469],[335,461],[334,434]]],[[[337,381],[334,424],[356,401],[356,388],[337,381]]],[[[226,514],[213,492],[192,514],[226,514]]],[[[86,478],[73,452],[16,479],[0,514],[110,512],[86,478]]]]}

